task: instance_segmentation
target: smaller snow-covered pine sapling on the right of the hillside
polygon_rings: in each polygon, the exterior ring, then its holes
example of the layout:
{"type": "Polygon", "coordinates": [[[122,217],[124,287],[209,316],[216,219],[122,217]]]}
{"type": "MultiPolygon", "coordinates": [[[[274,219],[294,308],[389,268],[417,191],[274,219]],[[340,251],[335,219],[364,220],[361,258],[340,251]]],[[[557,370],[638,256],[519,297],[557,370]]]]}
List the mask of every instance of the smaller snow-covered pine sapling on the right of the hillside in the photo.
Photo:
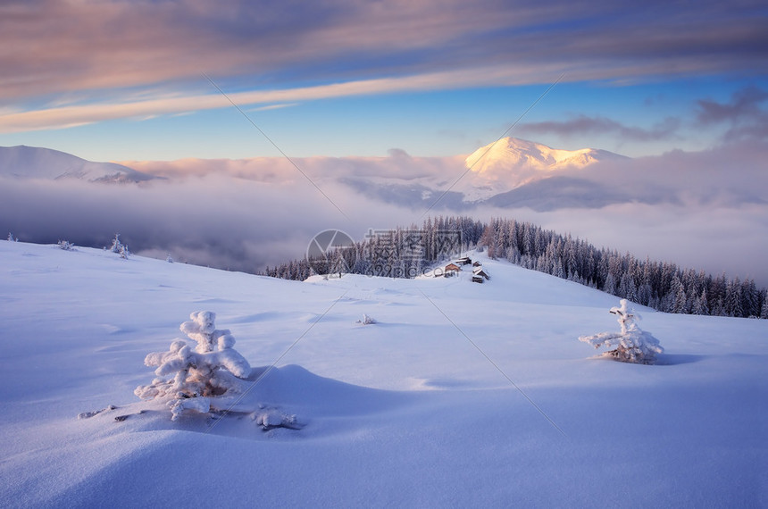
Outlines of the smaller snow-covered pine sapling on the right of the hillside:
{"type": "Polygon", "coordinates": [[[656,354],[663,354],[664,348],[659,340],[648,332],[640,330],[637,321],[639,314],[630,313],[627,309],[627,299],[620,301],[619,307],[612,307],[610,313],[618,316],[620,332],[601,332],[593,336],[581,336],[580,341],[599,348],[606,346],[614,348],[604,355],[614,357],[622,363],[653,364],[656,354]]]}

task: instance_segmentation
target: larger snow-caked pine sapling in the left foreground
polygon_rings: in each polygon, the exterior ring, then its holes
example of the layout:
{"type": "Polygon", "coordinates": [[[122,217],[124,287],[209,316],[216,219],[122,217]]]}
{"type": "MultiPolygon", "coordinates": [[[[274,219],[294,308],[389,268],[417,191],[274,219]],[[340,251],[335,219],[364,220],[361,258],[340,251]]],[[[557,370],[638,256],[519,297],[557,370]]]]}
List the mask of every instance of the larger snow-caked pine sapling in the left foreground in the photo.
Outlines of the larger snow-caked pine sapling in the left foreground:
{"type": "Polygon", "coordinates": [[[171,408],[171,421],[185,410],[208,413],[212,400],[221,400],[242,392],[243,379],[251,373],[246,358],[232,346],[235,338],[229,330],[215,328],[216,313],[198,311],[180,330],[196,341],[193,349],[183,339],[171,343],[167,352],[146,355],[144,363],[156,366],[158,378],[134,391],[141,399],[161,399],[171,408]],[[163,378],[165,377],[165,378],[163,378]]]}

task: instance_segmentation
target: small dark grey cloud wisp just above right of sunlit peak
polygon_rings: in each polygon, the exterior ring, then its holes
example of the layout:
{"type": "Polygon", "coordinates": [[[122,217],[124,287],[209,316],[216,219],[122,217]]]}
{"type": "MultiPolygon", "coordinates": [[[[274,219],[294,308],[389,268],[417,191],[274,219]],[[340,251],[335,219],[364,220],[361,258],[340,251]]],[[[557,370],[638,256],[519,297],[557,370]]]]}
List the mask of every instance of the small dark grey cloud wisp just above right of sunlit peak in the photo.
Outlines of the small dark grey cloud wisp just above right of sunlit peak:
{"type": "Polygon", "coordinates": [[[623,141],[657,141],[667,139],[675,135],[680,129],[680,120],[667,117],[664,121],[656,123],[651,129],[631,127],[619,121],[605,117],[589,117],[579,115],[567,121],[542,121],[522,124],[519,128],[523,132],[534,135],[556,134],[563,137],[611,134],[623,141]]]}

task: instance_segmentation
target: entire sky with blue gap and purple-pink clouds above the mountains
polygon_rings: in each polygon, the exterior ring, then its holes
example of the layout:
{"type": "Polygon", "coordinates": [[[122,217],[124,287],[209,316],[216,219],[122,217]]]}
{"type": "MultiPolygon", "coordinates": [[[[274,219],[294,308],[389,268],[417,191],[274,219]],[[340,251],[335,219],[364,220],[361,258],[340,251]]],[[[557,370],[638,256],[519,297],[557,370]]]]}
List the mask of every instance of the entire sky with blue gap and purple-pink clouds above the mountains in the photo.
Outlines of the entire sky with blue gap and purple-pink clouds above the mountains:
{"type": "Polygon", "coordinates": [[[632,157],[764,141],[766,21],[758,1],[6,1],[0,146],[138,161],[449,156],[505,133],[632,157]]]}

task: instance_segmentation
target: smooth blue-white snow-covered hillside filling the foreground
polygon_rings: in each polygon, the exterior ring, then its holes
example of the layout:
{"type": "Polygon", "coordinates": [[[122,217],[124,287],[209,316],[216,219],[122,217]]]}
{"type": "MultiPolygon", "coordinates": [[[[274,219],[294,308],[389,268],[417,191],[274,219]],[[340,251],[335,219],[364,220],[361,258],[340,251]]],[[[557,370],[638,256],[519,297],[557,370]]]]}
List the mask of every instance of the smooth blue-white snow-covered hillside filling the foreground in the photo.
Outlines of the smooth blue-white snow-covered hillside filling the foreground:
{"type": "Polygon", "coordinates": [[[293,282],[0,241],[0,505],[768,505],[768,321],[639,309],[661,365],[591,358],[614,296],[482,262],[293,282]],[[249,389],[171,421],[134,389],[200,310],[249,389]]]}

